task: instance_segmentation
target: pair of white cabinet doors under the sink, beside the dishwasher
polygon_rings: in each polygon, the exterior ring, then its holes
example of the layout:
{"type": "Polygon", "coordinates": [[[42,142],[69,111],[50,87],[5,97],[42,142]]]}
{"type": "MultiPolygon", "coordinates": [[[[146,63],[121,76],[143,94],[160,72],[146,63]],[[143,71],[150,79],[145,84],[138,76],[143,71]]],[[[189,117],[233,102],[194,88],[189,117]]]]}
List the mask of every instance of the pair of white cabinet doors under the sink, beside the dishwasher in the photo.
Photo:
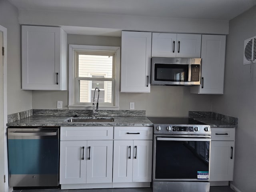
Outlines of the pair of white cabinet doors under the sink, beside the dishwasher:
{"type": "Polygon", "coordinates": [[[61,141],[60,184],[112,183],[113,141],[61,141]]]}

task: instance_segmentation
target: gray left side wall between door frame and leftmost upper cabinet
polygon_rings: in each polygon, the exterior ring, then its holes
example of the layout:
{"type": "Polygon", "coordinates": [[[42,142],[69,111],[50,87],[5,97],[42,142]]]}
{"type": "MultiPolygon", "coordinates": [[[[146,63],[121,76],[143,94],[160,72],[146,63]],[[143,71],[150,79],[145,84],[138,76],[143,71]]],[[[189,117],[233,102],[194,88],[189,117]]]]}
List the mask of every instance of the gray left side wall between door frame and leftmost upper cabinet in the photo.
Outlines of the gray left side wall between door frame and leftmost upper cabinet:
{"type": "Polygon", "coordinates": [[[21,90],[20,25],[18,9],[0,0],[0,25],[7,28],[7,98],[8,114],[32,108],[32,92],[21,90]]]}

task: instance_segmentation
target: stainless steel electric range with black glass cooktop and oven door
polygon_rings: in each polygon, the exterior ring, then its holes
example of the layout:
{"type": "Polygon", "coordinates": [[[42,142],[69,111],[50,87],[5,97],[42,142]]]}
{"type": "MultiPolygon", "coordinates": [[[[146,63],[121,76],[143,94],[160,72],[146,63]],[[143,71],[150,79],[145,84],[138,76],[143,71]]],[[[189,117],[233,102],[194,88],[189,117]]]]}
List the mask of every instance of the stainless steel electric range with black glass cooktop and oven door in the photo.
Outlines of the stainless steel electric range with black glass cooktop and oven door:
{"type": "Polygon", "coordinates": [[[149,120],[154,124],[153,192],[210,192],[210,126],[192,118],[149,120]]]}

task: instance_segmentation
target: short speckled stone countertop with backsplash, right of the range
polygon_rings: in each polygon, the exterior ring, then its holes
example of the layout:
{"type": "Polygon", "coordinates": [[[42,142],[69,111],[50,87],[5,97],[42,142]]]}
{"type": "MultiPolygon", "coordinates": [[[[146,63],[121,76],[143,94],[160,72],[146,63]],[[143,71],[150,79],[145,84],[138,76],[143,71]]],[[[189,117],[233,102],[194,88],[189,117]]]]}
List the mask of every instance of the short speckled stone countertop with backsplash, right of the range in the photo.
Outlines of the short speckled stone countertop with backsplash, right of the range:
{"type": "Polygon", "coordinates": [[[189,111],[188,116],[208,124],[211,128],[237,128],[238,118],[216,112],[189,111]]]}

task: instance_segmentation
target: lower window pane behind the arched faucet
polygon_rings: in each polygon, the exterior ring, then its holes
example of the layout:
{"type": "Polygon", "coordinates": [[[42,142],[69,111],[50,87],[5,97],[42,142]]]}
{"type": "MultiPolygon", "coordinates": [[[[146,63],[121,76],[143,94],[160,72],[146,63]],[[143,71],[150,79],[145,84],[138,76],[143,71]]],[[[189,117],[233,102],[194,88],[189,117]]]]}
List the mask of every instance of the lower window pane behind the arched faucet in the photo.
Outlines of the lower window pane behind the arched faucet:
{"type": "MultiPolygon", "coordinates": [[[[80,80],[80,101],[85,103],[92,103],[93,94],[96,87],[100,89],[99,102],[112,103],[112,81],[90,81],[80,80]],[[97,85],[98,83],[98,85],[97,85]],[[95,87],[96,85],[96,87],[95,87]]],[[[98,98],[98,91],[96,90],[95,98],[98,98]]]]}

